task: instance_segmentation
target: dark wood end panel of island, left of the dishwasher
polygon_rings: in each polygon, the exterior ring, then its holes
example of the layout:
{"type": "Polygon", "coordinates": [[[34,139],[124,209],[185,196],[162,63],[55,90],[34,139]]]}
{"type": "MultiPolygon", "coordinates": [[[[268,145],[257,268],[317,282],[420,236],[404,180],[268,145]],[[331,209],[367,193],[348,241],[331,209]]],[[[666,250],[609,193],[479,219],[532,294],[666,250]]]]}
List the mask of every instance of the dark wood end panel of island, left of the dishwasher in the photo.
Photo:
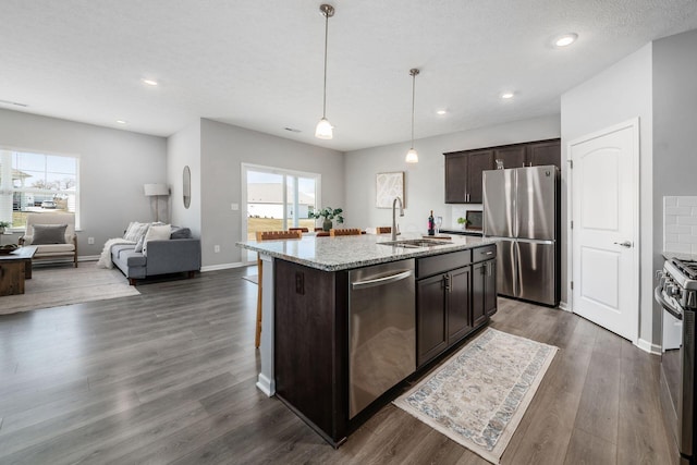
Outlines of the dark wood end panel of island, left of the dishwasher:
{"type": "Polygon", "coordinates": [[[333,445],[347,429],[347,273],[276,260],[276,394],[333,445]]]}

